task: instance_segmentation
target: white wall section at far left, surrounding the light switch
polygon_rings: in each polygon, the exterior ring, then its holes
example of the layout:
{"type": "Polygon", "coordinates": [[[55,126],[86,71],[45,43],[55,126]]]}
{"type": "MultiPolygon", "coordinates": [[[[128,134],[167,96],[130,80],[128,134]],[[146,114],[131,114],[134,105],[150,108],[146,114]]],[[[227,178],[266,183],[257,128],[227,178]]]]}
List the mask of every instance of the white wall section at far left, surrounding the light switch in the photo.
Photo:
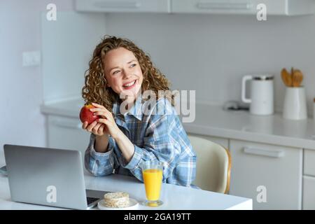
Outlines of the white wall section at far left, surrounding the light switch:
{"type": "Polygon", "coordinates": [[[41,50],[41,12],[48,3],[72,10],[71,0],[0,1],[0,151],[3,144],[45,145],[41,66],[22,66],[22,52],[41,50]]]}

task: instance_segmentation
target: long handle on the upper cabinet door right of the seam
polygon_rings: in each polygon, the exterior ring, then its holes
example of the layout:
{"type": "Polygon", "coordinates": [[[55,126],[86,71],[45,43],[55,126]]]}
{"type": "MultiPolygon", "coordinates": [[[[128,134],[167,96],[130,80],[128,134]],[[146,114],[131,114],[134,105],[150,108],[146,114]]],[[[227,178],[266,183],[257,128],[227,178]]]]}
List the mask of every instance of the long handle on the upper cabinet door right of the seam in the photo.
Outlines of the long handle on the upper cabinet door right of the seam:
{"type": "Polygon", "coordinates": [[[219,3],[219,2],[198,2],[197,8],[200,9],[235,9],[235,10],[249,10],[253,7],[251,3],[219,3]]]}

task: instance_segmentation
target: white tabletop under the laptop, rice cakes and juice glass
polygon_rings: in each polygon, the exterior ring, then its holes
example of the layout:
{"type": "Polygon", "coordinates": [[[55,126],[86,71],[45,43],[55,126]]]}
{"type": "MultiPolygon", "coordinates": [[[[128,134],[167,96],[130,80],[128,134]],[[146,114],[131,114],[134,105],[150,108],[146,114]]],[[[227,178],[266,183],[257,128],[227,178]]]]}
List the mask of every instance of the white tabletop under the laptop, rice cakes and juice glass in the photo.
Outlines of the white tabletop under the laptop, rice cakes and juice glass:
{"type": "MultiPolygon", "coordinates": [[[[3,151],[0,151],[0,166],[3,162],[3,151]]],[[[95,177],[91,174],[85,174],[85,186],[87,189],[104,191],[124,191],[130,194],[130,197],[137,200],[139,209],[176,209],[176,210],[194,210],[194,209],[252,209],[251,199],[213,193],[206,190],[198,190],[175,186],[163,183],[160,200],[164,202],[160,207],[144,207],[141,202],[146,200],[144,183],[141,183],[132,176],[123,176],[112,174],[110,176],[95,177]]],[[[0,209],[60,209],[55,207],[45,207],[34,204],[25,204],[12,202],[10,200],[10,189],[8,186],[8,177],[0,174],[0,209]]]]}

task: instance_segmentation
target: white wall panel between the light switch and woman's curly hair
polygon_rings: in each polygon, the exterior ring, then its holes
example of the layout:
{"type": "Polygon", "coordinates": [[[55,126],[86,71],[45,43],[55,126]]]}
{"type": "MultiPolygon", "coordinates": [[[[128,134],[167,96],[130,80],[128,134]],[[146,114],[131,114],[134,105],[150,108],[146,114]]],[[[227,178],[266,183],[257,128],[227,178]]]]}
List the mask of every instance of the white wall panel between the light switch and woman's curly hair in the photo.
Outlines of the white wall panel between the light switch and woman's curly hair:
{"type": "Polygon", "coordinates": [[[106,33],[104,13],[59,11],[57,21],[43,14],[42,73],[45,104],[81,98],[84,73],[95,45],[106,33]]]}

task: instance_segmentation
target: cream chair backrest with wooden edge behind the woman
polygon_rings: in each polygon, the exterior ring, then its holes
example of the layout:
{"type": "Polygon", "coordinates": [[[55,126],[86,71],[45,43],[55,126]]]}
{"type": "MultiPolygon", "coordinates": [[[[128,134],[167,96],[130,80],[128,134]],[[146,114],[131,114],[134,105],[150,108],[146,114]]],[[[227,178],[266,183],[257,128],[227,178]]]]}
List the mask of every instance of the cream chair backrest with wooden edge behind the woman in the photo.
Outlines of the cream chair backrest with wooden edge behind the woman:
{"type": "Polygon", "coordinates": [[[194,184],[202,190],[228,193],[230,188],[231,156],[227,148],[188,135],[190,144],[197,153],[197,173],[194,184]]]}

